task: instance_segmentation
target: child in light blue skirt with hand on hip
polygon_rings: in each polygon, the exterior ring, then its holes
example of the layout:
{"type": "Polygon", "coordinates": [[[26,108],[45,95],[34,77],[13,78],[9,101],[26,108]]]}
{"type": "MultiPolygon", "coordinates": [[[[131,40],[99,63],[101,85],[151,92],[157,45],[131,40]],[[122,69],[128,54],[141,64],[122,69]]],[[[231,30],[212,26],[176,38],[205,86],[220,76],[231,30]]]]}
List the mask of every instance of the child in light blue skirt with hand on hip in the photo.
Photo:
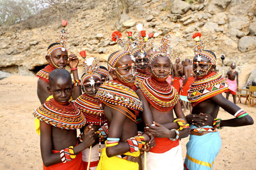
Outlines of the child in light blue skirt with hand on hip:
{"type": "Polygon", "coordinates": [[[224,126],[252,125],[253,119],[222,96],[221,93],[227,91],[228,86],[224,77],[214,72],[217,65],[215,54],[204,50],[200,33],[195,33],[193,37],[196,42],[192,67],[196,78],[188,91],[188,100],[193,108],[192,114],[186,116],[190,123],[190,138],[186,144],[184,170],[211,170],[221,148],[218,130],[224,126]],[[235,118],[216,119],[219,107],[235,118]]]}

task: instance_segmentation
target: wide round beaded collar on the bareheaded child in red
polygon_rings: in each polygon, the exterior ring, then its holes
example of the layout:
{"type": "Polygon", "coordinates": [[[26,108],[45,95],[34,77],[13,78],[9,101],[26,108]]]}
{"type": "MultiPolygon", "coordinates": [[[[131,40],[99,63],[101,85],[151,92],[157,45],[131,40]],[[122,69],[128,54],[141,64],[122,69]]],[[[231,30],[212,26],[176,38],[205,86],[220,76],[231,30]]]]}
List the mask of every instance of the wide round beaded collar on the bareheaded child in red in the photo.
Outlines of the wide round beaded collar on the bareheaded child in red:
{"type": "Polygon", "coordinates": [[[35,118],[61,129],[80,129],[85,125],[84,115],[72,103],[61,105],[54,99],[44,102],[33,113],[35,118]]]}

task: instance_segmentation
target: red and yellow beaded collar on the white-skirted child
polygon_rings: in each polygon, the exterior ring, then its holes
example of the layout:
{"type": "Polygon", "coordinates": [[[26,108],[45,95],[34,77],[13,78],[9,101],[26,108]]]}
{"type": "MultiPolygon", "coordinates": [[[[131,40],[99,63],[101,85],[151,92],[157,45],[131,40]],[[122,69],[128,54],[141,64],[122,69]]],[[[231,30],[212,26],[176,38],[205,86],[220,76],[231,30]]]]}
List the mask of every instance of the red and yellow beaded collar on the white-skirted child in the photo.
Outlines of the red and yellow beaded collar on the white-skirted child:
{"type": "Polygon", "coordinates": [[[139,88],[148,102],[159,111],[170,111],[179,100],[177,90],[168,82],[157,82],[148,77],[139,83],[139,88]]]}

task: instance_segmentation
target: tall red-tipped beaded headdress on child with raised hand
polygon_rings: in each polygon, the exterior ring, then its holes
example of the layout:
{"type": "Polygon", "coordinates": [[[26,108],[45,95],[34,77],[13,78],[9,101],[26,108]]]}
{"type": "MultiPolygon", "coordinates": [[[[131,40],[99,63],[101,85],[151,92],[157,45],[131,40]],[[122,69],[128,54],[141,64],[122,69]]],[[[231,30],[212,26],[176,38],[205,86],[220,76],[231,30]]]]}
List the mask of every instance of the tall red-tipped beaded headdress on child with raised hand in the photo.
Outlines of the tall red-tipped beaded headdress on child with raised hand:
{"type": "Polygon", "coordinates": [[[58,42],[60,44],[56,44],[50,47],[47,50],[47,56],[51,56],[51,54],[58,49],[61,49],[61,51],[67,51],[66,49],[67,40],[66,40],[66,31],[65,31],[65,27],[67,26],[67,21],[61,20],[61,23],[62,23],[62,30],[60,31],[61,33],[58,36],[58,42]]]}

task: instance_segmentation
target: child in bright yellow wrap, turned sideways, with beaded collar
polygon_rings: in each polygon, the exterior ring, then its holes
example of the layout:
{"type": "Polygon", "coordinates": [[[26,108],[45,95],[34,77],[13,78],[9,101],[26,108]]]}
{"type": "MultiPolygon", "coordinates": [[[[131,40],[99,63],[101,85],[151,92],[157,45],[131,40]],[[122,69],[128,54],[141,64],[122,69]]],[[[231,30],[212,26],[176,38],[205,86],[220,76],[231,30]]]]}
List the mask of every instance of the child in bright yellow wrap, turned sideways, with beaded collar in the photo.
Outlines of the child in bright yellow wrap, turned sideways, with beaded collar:
{"type": "Polygon", "coordinates": [[[97,170],[138,170],[140,149],[146,142],[154,147],[154,137],[138,134],[136,116],[142,103],[130,88],[136,80],[135,58],[128,51],[116,51],[108,58],[113,81],[105,82],[96,97],[102,102],[109,133],[97,170]]]}

